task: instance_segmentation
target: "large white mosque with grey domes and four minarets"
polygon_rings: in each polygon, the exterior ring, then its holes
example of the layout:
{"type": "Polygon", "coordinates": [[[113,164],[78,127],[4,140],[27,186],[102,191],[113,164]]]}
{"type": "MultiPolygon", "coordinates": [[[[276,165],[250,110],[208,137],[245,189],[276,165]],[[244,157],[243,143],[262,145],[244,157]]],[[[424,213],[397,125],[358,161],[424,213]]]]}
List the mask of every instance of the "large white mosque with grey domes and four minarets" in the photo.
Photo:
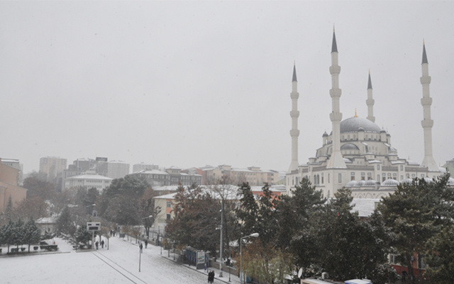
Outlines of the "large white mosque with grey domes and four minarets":
{"type": "Polygon", "coordinates": [[[422,57],[422,98],[424,139],[424,159],[421,164],[399,158],[391,145],[391,135],[375,124],[373,113],[372,80],[367,84],[367,118],[342,120],[340,112],[341,89],[339,89],[338,49],[336,33],[333,31],[331,47],[331,90],[332,112],[329,114],[333,130],[323,133],[322,146],[316,150],[316,157],[309,158],[307,164],[298,162],[298,117],[297,70],[294,66],[292,77],[292,161],[286,175],[286,188],[294,188],[302,178],[308,178],[316,189],[327,198],[332,198],[338,189],[350,188],[353,198],[379,199],[397,189],[399,183],[411,183],[413,178],[432,180],[441,174],[432,154],[431,104],[429,92],[431,76],[428,75],[426,47],[423,44],[422,57]]]}

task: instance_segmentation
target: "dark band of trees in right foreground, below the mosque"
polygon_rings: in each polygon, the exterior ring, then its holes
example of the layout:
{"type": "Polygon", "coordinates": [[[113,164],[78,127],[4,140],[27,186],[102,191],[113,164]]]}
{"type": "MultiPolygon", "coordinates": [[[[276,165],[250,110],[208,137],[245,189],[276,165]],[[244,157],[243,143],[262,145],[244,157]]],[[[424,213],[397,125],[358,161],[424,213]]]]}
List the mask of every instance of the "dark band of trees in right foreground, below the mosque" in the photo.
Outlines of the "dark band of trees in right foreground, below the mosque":
{"type": "MultiPolygon", "coordinates": [[[[167,236],[181,246],[216,251],[216,228],[223,212],[224,256],[230,255],[231,240],[260,234],[248,239],[243,251],[243,271],[260,283],[284,283],[284,277],[299,268],[304,277],[328,272],[335,280],[367,277],[373,283],[394,282],[397,274],[388,263],[390,253],[397,254],[411,275],[416,255],[428,263],[424,277],[432,283],[453,283],[454,194],[448,178],[431,183],[416,178],[399,185],[366,219],[354,212],[347,189],[326,200],[305,179],[292,195],[281,198],[274,198],[267,185],[257,197],[243,183],[237,199],[226,198],[222,194],[226,191],[218,191],[220,196],[192,186],[177,194],[167,236]]],[[[226,184],[219,188],[226,189],[226,184]]]]}

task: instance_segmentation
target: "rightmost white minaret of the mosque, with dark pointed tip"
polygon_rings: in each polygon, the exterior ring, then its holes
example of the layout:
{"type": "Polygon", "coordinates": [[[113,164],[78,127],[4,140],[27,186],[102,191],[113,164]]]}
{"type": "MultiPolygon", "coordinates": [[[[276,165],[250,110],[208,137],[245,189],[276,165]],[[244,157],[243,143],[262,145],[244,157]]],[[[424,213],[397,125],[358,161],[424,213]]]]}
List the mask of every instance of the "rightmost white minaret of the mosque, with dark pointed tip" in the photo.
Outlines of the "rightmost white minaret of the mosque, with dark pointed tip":
{"type": "Polygon", "coordinates": [[[421,105],[423,106],[424,119],[421,120],[421,125],[424,130],[424,159],[421,166],[427,166],[428,171],[439,171],[437,163],[432,155],[432,126],[433,120],[431,119],[431,105],[432,98],[429,91],[429,84],[431,84],[431,76],[428,76],[428,62],[426,55],[426,44],[423,42],[423,61],[421,63],[422,74],[421,85],[423,86],[423,98],[421,98],[421,105]]]}

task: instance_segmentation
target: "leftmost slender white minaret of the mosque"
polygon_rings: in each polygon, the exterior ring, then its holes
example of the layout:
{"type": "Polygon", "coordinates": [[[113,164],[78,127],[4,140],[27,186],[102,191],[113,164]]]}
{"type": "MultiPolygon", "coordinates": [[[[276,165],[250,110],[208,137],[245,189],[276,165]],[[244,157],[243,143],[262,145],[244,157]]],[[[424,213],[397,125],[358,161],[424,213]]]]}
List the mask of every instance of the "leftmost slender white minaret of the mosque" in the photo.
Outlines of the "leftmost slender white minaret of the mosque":
{"type": "Polygon", "coordinates": [[[292,130],[290,130],[290,137],[292,137],[292,162],[289,166],[289,172],[298,169],[298,80],[297,80],[297,67],[293,64],[293,78],[292,78],[292,93],[290,93],[290,98],[292,98],[292,111],[290,111],[290,117],[292,118],[292,130]]]}

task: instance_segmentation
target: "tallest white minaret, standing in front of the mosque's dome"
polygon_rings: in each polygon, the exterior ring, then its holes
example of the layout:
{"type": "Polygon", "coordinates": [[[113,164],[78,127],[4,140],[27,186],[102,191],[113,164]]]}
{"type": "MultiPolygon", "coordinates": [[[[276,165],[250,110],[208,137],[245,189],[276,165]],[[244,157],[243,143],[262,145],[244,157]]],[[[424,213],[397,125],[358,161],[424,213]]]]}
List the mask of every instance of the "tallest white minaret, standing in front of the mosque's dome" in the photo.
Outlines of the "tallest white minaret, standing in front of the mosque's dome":
{"type": "Polygon", "coordinates": [[[328,160],[326,168],[346,168],[345,161],[341,154],[341,120],[342,113],[339,108],[339,98],[341,98],[341,89],[339,89],[339,73],[341,67],[338,65],[338,45],[336,44],[336,33],[333,30],[333,45],[331,47],[331,90],[329,94],[333,104],[333,111],[329,114],[331,123],[333,123],[333,152],[328,160]]]}

